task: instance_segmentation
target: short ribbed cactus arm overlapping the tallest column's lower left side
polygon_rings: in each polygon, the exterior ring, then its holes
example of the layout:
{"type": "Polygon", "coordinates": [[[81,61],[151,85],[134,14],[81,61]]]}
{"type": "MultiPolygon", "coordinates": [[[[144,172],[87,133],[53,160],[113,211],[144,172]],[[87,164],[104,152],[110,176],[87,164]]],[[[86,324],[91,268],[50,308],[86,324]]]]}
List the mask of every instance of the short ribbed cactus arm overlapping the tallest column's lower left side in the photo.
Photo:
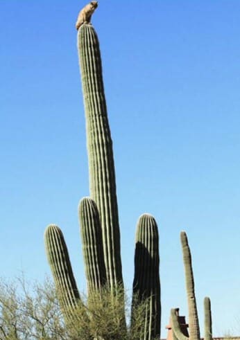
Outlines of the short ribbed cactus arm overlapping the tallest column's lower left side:
{"type": "Polygon", "coordinates": [[[81,199],[79,220],[87,289],[90,293],[92,290],[100,290],[106,283],[101,224],[98,209],[92,199],[81,199]]]}

